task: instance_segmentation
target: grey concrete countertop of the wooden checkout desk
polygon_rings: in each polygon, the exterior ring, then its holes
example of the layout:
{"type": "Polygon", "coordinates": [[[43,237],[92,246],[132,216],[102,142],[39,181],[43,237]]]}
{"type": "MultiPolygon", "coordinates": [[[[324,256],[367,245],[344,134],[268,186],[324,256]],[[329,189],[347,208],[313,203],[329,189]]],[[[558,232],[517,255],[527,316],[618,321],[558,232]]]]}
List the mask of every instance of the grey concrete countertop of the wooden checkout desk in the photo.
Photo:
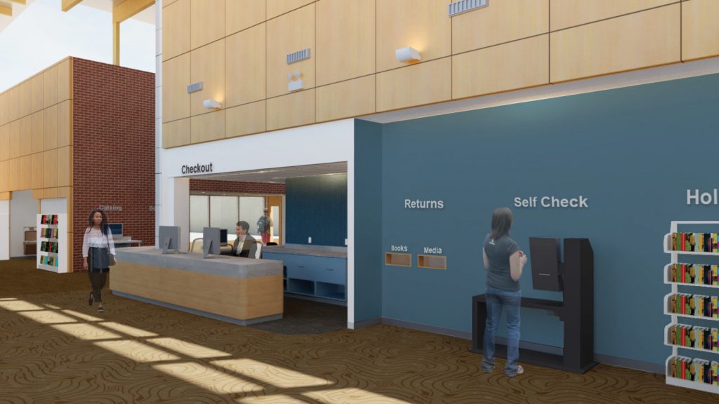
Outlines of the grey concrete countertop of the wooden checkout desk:
{"type": "Polygon", "coordinates": [[[240,278],[265,277],[283,273],[282,261],[276,260],[252,260],[227,255],[211,255],[211,258],[205,260],[202,253],[162,254],[162,250],[155,247],[117,248],[116,253],[120,265],[127,262],[128,264],[240,278]]]}

